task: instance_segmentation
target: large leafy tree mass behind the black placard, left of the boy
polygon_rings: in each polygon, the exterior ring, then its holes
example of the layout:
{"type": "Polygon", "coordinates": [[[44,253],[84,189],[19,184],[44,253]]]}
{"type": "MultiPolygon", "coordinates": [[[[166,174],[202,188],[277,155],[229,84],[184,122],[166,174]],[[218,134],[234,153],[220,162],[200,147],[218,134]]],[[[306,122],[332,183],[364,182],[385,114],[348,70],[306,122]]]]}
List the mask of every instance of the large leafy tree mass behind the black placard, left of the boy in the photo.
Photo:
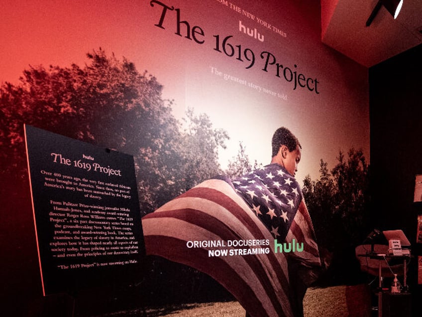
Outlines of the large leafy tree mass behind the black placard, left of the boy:
{"type": "Polygon", "coordinates": [[[193,111],[183,131],[154,76],[101,48],[87,57],[85,67],[30,67],[0,87],[3,181],[27,179],[24,123],[133,155],[143,213],[219,171],[225,131],[193,111]]]}

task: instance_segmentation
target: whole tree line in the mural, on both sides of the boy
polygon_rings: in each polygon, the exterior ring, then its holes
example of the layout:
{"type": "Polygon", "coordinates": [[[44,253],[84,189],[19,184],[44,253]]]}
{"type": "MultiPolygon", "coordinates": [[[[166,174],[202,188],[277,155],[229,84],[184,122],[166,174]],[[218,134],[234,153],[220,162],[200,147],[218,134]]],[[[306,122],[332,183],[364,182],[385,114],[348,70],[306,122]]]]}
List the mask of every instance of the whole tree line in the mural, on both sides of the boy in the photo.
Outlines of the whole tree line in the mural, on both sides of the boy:
{"type": "MultiPolygon", "coordinates": [[[[31,66],[18,84],[1,84],[1,200],[19,200],[29,186],[24,123],[132,155],[142,214],[215,175],[235,177],[258,166],[240,143],[222,170],[218,155],[229,136],[206,114],[189,109],[177,120],[174,102],[163,99],[163,86],[153,75],[102,49],[87,58],[83,67],[31,66]]],[[[318,242],[333,252],[360,241],[369,202],[362,151],[351,149],[347,158],[340,152],[337,159],[331,171],[321,160],[320,179],[307,176],[303,186],[318,242]]]]}

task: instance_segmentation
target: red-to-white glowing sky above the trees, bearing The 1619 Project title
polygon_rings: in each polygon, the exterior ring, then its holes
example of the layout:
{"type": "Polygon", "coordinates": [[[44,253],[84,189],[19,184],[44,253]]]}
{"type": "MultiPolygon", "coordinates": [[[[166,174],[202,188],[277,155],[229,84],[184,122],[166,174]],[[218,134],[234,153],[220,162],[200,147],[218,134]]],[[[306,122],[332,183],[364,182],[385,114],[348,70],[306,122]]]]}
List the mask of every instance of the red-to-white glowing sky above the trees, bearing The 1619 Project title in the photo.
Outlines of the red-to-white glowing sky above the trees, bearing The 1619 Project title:
{"type": "Polygon", "coordinates": [[[339,150],[369,159],[367,69],[321,43],[318,1],[3,2],[0,83],[29,65],[83,66],[101,47],[154,75],[177,118],[194,108],[225,129],[223,167],[240,141],[269,163],[280,126],[302,143],[299,180],[317,178],[320,159],[332,168],[339,150]]]}

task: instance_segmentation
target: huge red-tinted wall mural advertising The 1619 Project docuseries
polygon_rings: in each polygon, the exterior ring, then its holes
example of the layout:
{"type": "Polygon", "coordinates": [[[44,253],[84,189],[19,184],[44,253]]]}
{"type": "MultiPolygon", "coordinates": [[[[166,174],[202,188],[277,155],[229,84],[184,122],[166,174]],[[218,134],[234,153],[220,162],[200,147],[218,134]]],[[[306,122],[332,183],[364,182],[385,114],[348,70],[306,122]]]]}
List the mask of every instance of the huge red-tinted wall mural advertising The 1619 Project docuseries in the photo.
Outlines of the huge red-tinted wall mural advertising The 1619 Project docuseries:
{"type": "Polygon", "coordinates": [[[319,4],[306,2],[5,5],[2,230],[6,252],[24,250],[10,267],[31,264],[25,296],[40,281],[24,124],[133,156],[149,255],[130,283],[144,306],[236,300],[250,316],[292,316],[311,283],[359,276],[368,70],[321,43],[319,4]],[[274,159],[280,127],[296,143],[274,159]]]}

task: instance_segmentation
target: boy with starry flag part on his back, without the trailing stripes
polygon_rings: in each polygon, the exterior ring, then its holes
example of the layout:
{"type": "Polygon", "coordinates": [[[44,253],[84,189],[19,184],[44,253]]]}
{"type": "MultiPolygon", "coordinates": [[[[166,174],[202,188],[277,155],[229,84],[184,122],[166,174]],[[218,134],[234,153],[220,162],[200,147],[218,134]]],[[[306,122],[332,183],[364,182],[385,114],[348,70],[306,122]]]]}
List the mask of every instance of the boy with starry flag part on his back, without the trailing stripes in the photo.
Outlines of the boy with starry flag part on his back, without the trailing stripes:
{"type": "Polygon", "coordinates": [[[290,305],[297,317],[303,316],[303,298],[321,267],[311,217],[295,179],[301,150],[298,139],[287,128],[279,128],[272,138],[271,163],[232,180],[237,193],[273,235],[275,246],[284,246],[290,305]]]}

